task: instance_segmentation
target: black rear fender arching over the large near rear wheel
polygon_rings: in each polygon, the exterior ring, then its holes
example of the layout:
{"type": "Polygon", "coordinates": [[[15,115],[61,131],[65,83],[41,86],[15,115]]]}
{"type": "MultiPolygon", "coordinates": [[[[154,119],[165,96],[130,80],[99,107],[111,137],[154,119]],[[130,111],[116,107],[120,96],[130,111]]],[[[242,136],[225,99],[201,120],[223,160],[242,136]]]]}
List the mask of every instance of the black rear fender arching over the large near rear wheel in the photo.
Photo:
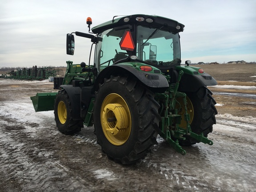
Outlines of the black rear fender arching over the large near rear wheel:
{"type": "Polygon", "coordinates": [[[104,68],[100,72],[94,84],[95,90],[99,89],[99,84],[103,84],[104,78],[110,78],[112,75],[132,75],[152,92],[163,93],[169,87],[167,79],[161,73],[141,72],[128,65],[115,64],[104,68]]]}

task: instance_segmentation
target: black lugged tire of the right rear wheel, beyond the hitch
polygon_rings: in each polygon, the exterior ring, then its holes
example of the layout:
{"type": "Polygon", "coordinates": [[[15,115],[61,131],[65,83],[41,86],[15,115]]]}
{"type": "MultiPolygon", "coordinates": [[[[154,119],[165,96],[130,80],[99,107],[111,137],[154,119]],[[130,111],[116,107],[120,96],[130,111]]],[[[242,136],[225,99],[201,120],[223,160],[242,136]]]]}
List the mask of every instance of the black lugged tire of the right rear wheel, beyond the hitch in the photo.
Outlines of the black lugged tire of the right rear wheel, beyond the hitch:
{"type": "MultiPolygon", "coordinates": [[[[196,92],[185,92],[192,103],[192,122],[191,130],[196,134],[203,132],[207,137],[212,132],[212,125],[216,124],[215,115],[218,113],[215,104],[216,101],[212,98],[212,92],[207,87],[201,87],[196,92]]],[[[190,146],[199,143],[194,138],[185,136],[186,140],[179,140],[181,145],[190,146]]]]}

